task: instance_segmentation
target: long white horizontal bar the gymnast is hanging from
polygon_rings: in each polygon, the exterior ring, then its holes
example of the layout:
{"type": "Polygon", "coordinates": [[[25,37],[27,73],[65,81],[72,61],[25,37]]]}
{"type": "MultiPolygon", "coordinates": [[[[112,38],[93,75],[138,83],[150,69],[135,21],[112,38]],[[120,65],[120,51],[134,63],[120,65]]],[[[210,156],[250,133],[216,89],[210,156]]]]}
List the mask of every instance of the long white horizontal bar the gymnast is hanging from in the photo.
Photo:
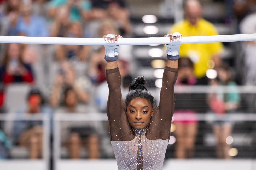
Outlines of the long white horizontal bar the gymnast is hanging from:
{"type": "MultiPolygon", "coordinates": [[[[210,43],[210,42],[233,42],[233,41],[255,41],[256,34],[234,34],[183,37],[179,43],[210,43]]],[[[104,45],[103,38],[60,38],[60,37],[21,37],[0,36],[0,43],[22,43],[22,44],[63,44],[63,45],[104,45]]],[[[173,42],[176,44],[177,42],[173,42]]],[[[167,37],[150,38],[120,38],[117,45],[151,45],[170,44],[167,37]]],[[[177,43],[178,44],[178,43],[177,43]]]]}

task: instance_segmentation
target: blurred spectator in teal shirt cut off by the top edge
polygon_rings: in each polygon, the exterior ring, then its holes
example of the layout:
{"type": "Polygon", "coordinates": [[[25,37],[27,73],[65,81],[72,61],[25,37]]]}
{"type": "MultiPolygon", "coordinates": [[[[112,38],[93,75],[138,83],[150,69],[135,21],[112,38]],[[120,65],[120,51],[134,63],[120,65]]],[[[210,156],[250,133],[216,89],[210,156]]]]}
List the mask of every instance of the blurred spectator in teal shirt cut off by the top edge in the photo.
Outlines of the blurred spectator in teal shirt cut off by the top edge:
{"type": "Polygon", "coordinates": [[[88,0],[51,0],[48,4],[48,17],[54,18],[58,15],[58,8],[65,6],[69,11],[69,20],[79,22],[90,16],[91,3],[88,0]]]}

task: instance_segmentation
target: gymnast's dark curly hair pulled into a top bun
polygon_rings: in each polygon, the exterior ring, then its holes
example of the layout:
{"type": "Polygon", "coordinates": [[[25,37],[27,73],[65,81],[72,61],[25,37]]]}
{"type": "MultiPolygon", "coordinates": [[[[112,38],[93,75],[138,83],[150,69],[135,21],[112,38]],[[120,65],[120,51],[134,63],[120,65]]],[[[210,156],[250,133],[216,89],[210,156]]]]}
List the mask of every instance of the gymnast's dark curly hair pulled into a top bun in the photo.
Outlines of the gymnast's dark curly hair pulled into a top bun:
{"type": "Polygon", "coordinates": [[[156,108],[155,98],[148,92],[146,87],[146,80],[142,76],[138,76],[129,86],[129,93],[126,95],[125,99],[125,110],[127,110],[128,104],[132,99],[144,98],[148,100],[152,108],[156,108]]]}

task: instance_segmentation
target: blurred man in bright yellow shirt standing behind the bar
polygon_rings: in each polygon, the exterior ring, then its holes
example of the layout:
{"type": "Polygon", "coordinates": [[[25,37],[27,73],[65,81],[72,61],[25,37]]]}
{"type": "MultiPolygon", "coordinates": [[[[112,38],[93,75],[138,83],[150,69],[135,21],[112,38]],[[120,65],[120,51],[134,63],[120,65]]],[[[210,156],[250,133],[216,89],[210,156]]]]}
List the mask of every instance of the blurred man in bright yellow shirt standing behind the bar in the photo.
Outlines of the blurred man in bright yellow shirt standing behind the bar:
{"type": "MultiPolygon", "coordinates": [[[[174,24],[170,32],[180,32],[185,36],[218,35],[215,26],[202,18],[202,6],[197,0],[188,0],[184,9],[185,19],[174,24]]],[[[189,57],[194,63],[197,78],[206,76],[210,68],[221,63],[222,43],[182,44],[179,49],[181,57],[189,57]]]]}

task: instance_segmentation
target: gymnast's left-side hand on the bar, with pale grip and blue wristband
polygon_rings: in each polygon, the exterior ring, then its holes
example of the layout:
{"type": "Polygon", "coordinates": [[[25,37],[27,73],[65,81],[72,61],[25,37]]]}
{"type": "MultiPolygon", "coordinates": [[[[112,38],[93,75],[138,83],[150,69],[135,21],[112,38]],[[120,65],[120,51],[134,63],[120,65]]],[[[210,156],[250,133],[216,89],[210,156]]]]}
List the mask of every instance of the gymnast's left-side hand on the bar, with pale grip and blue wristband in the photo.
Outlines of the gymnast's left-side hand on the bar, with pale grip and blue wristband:
{"type": "Polygon", "coordinates": [[[105,60],[116,61],[118,56],[119,45],[115,45],[117,43],[118,38],[123,38],[121,35],[108,34],[103,36],[106,41],[105,46],[105,60]]]}

